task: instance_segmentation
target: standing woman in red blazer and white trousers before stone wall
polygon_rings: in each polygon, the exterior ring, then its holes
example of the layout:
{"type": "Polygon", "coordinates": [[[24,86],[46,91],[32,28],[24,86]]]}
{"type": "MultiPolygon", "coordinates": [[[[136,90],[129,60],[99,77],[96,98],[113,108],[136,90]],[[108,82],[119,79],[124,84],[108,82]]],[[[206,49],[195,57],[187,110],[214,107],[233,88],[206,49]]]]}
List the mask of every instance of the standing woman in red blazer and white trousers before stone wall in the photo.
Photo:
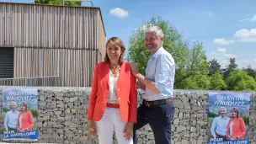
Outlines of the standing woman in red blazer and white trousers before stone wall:
{"type": "Polygon", "coordinates": [[[113,144],[113,131],[119,144],[132,144],[136,123],[136,77],[123,60],[125,45],[118,37],[106,44],[106,55],[93,74],[88,108],[88,132],[99,136],[99,144],[113,144]]]}

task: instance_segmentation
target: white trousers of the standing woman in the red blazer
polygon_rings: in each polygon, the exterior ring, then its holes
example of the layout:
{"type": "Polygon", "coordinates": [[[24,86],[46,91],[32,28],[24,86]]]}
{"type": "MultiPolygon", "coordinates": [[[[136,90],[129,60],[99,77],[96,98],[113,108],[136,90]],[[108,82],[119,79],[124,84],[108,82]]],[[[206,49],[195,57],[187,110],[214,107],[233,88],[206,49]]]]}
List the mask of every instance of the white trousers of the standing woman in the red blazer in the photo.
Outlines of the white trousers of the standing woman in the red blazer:
{"type": "Polygon", "coordinates": [[[106,108],[101,120],[96,121],[99,144],[113,144],[113,132],[119,144],[133,144],[132,137],[125,140],[125,122],[120,115],[120,109],[106,108]]]}

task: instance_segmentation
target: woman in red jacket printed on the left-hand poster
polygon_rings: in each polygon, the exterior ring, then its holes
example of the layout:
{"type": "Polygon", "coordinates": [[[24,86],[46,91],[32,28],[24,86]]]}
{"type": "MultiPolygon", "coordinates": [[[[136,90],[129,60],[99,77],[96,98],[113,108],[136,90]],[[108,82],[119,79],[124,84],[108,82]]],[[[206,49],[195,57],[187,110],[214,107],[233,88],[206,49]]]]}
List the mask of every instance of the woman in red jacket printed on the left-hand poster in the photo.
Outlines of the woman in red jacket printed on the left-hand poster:
{"type": "Polygon", "coordinates": [[[28,105],[25,102],[20,104],[20,112],[17,119],[17,131],[32,131],[34,127],[34,119],[31,112],[28,110],[28,105]]]}

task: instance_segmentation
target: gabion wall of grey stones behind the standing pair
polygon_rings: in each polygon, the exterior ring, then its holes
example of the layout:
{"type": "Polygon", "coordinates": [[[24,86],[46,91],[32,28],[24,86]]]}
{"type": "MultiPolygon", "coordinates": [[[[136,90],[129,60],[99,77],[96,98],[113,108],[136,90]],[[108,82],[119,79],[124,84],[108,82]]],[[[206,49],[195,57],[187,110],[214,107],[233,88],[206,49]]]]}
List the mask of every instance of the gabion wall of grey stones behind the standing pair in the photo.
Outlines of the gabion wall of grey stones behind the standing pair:
{"type": "MultiPolygon", "coordinates": [[[[3,88],[0,87],[0,113],[3,106],[3,88]]],[[[9,87],[8,87],[9,88],[9,87]]],[[[23,88],[23,87],[19,87],[23,88]]],[[[97,144],[98,139],[88,136],[88,101],[91,88],[38,88],[39,141],[35,143],[87,143],[97,144]]],[[[175,144],[206,144],[208,140],[208,93],[211,91],[175,90],[176,108],[173,120],[175,144]]],[[[242,93],[242,92],[237,92],[242,93]]],[[[250,125],[248,137],[256,144],[256,92],[251,93],[250,125]]],[[[138,97],[140,101],[140,97],[138,97]]],[[[0,129],[3,117],[0,117],[0,129]]],[[[153,144],[154,136],[149,125],[137,131],[140,144],[153,144]]],[[[115,136],[114,136],[115,137],[115,136]]],[[[2,135],[0,136],[2,141],[2,135]]],[[[116,141],[114,143],[117,143],[116,141]]]]}

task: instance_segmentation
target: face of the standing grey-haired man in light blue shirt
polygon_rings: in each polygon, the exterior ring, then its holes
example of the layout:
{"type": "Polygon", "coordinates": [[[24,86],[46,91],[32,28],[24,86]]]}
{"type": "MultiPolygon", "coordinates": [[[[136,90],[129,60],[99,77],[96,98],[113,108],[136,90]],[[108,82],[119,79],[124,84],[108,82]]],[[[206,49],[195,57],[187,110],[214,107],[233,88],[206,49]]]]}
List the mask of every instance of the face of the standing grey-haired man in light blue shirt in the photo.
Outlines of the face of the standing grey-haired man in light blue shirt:
{"type": "Polygon", "coordinates": [[[155,32],[147,32],[146,34],[146,47],[147,51],[154,54],[163,45],[163,38],[157,39],[155,32]]]}

